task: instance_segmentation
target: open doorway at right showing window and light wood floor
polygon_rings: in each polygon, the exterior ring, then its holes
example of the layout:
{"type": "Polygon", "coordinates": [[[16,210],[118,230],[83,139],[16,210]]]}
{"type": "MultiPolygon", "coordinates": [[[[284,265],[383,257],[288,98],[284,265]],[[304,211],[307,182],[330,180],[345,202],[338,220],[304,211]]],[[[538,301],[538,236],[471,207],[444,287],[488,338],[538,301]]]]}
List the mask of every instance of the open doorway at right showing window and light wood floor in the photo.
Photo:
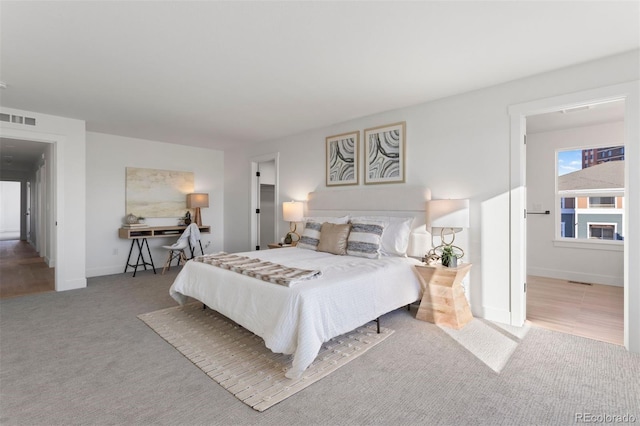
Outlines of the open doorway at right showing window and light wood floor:
{"type": "Polygon", "coordinates": [[[623,344],[624,100],[526,117],[527,321],[623,344]]]}

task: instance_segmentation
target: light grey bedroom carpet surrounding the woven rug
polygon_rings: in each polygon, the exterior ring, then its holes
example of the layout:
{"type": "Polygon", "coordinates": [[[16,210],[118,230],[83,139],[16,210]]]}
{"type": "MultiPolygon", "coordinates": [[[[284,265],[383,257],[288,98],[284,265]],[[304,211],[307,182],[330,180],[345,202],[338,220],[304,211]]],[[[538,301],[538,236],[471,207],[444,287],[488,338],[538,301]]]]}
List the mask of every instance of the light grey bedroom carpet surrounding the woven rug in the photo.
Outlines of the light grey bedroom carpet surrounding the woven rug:
{"type": "Polygon", "coordinates": [[[259,412],[138,319],[176,306],[169,287],[179,271],[93,277],[80,290],[0,300],[0,425],[575,425],[583,413],[640,419],[637,353],[532,326],[498,374],[440,327],[416,320],[415,307],[382,317],[395,330],[384,343],[259,412]]]}

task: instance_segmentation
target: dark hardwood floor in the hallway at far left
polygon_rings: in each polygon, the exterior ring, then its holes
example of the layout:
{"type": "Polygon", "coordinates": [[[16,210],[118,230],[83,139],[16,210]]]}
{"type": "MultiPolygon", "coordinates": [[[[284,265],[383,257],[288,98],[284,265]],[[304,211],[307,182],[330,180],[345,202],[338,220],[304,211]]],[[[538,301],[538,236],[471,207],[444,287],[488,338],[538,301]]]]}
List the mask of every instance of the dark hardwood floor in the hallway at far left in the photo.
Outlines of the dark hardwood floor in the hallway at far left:
{"type": "Polygon", "coordinates": [[[0,241],[0,299],[55,291],[55,270],[26,241],[0,241]]]}

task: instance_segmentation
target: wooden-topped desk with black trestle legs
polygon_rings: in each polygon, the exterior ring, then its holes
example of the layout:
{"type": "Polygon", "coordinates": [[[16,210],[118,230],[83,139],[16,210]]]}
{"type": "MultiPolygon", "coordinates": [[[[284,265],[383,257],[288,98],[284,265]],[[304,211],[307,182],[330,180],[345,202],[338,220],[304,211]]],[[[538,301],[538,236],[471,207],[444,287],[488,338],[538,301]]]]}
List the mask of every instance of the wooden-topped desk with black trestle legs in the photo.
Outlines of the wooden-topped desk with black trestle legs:
{"type": "MultiPolygon", "coordinates": [[[[122,227],[118,229],[118,236],[120,238],[124,238],[127,240],[131,240],[131,248],[129,249],[129,256],[127,257],[127,262],[124,266],[124,272],[127,272],[127,269],[130,267],[133,268],[133,276],[136,276],[136,272],[138,272],[138,267],[142,266],[144,270],[147,270],[147,266],[150,266],[153,269],[153,273],[156,273],[156,267],[153,264],[153,258],[151,257],[151,250],[149,249],[148,238],[167,238],[174,237],[179,238],[180,235],[187,229],[186,226],[146,226],[146,227],[122,227]],[[138,257],[136,258],[136,263],[131,263],[131,254],[133,253],[133,247],[138,247],[138,257]],[[144,258],[143,250],[144,247],[147,248],[147,254],[149,255],[149,261],[147,262],[144,258]]],[[[201,234],[210,234],[211,227],[210,226],[199,226],[201,234]]],[[[193,257],[193,251],[195,248],[189,246],[191,250],[191,257],[193,257]]],[[[204,254],[202,250],[202,243],[200,243],[200,251],[204,254]]]]}

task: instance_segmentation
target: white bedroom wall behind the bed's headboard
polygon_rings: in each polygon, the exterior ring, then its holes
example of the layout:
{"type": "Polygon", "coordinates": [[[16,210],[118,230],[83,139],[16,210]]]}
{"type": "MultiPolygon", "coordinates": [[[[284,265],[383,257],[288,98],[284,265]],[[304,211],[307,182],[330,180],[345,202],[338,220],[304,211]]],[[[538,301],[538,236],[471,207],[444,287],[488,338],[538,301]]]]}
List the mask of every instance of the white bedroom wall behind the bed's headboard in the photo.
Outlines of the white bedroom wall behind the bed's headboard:
{"type": "MultiPolygon", "coordinates": [[[[280,153],[280,200],[303,200],[325,188],[325,137],[406,121],[406,185],[431,188],[432,198],[469,198],[467,253],[474,264],[474,315],[508,322],[510,119],[513,104],[638,78],[638,51],[605,58],[410,108],[348,121],[226,152],[227,251],[249,250],[250,158],[280,153]]],[[[636,118],[637,119],[637,118],[636,118]]],[[[636,141],[637,142],[637,141],[636,141]]],[[[629,167],[633,167],[630,164],[629,167]]],[[[640,167],[640,164],[636,164],[640,167]]],[[[368,186],[360,185],[363,191],[368,186]]],[[[396,184],[401,190],[403,184],[396,184]]],[[[336,189],[339,190],[339,189],[336,189]]],[[[278,234],[287,224],[281,222],[278,234]]]]}

